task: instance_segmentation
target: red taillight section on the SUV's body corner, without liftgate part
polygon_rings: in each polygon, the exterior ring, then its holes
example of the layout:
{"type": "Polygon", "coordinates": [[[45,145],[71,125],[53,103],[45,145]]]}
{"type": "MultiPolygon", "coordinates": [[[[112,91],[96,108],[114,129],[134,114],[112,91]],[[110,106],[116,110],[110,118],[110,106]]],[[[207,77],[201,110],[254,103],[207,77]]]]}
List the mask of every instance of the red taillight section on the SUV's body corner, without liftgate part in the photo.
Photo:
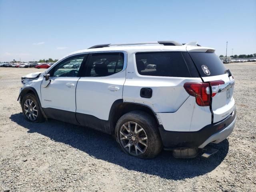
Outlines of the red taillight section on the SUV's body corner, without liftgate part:
{"type": "Polygon", "coordinates": [[[199,106],[210,106],[209,83],[185,83],[184,88],[188,94],[196,97],[196,103],[199,106]]]}

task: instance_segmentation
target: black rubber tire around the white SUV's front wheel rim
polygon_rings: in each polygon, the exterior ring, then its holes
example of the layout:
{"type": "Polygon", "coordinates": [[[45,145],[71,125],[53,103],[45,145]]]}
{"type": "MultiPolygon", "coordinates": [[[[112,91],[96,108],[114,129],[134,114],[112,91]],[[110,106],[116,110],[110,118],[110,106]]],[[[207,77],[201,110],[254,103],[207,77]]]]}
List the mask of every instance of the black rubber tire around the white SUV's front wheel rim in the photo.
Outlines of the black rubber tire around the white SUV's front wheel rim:
{"type": "MultiPolygon", "coordinates": [[[[28,103],[26,103],[28,104],[28,103]]],[[[33,104],[33,103],[32,103],[33,104]]],[[[32,106],[34,106],[32,105],[32,106]]],[[[38,103],[38,100],[36,99],[36,96],[34,94],[31,94],[31,93],[28,93],[26,94],[23,98],[22,98],[22,102],[21,102],[21,108],[22,108],[22,113],[24,115],[24,117],[26,118],[27,121],[30,121],[30,122],[43,122],[45,119],[44,119],[44,116],[42,114],[42,111],[40,110],[40,105],[38,103]],[[28,118],[28,116],[26,115],[28,112],[26,112],[26,106],[25,106],[25,102],[26,100],[32,100],[34,102],[34,105],[36,106],[36,109],[37,110],[37,113],[36,113],[36,118],[33,116],[32,119],[28,118]]]]}

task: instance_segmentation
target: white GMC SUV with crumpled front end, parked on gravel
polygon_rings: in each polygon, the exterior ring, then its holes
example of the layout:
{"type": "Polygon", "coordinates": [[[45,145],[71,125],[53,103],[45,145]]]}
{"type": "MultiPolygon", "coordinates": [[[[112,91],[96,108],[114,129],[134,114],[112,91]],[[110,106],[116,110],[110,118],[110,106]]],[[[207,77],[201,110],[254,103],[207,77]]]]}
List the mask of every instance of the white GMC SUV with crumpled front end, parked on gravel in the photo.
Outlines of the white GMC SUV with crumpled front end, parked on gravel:
{"type": "Polygon", "coordinates": [[[214,51],[196,42],[97,45],[22,77],[18,100],[28,121],[113,134],[132,156],[164,148],[192,157],[227,138],[236,121],[234,78],[214,51]]]}

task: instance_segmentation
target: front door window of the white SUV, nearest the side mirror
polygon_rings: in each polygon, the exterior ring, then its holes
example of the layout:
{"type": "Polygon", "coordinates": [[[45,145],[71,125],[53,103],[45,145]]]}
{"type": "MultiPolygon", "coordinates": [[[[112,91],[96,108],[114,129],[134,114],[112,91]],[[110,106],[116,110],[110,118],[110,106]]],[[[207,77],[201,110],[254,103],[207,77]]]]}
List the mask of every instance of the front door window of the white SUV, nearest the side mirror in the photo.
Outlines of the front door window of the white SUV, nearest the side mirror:
{"type": "Polygon", "coordinates": [[[71,56],[54,66],[52,77],[77,77],[79,68],[84,59],[83,55],[71,56]]]}

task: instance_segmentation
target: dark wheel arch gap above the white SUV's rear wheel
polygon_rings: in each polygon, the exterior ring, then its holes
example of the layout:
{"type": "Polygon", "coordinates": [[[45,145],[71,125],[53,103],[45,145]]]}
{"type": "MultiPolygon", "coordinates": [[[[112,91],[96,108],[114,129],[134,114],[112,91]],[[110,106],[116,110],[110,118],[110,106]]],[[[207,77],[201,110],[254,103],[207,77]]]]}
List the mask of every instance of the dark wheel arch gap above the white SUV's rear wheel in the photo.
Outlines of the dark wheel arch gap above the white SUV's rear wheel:
{"type": "Polygon", "coordinates": [[[138,103],[132,103],[132,102],[123,102],[122,99],[116,100],[113,104],[112,107],[110,109],[110,114],[109,114],[109,122],[110,122],[110,130],[111,130],[111,134],[114,134],[115,132],[115,127],[116,127],[116,123],[118,121],[118,119],[123,116],[124,114],[131,112],[131,111],[144,111],[146,113],[148,113],[150,116],[152,116],[152,118],[154,118],[158,124],[158,126],[160,126],[158,119],[156,117],[156,114],[154,113],[154,111],[143,104],[138,104],[138,103]]]}

